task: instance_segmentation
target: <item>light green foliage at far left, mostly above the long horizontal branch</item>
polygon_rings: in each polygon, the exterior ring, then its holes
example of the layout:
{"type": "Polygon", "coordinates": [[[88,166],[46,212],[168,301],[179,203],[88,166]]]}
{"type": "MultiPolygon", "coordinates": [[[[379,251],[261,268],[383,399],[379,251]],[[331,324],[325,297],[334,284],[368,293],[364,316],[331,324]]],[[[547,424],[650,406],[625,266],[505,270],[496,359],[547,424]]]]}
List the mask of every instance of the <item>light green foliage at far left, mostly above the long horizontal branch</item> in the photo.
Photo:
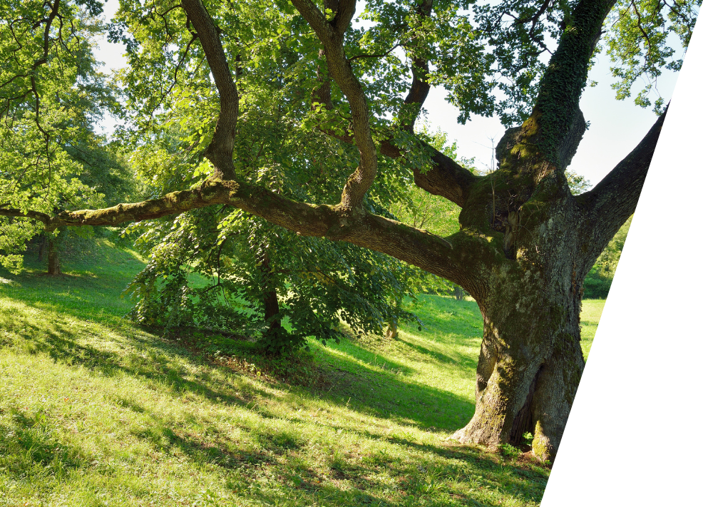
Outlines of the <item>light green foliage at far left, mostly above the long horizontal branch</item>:
{"type": "MultiPolygon", "coordinates": [[[[118,149],[92,128],[116,106],[92,54],[102,5],[6,1],[1,11],[0,207],[53,214],[138,197],[118,149]]],[[[40,230],[0,217],[0,264],[21,269],[40,230]]]]}

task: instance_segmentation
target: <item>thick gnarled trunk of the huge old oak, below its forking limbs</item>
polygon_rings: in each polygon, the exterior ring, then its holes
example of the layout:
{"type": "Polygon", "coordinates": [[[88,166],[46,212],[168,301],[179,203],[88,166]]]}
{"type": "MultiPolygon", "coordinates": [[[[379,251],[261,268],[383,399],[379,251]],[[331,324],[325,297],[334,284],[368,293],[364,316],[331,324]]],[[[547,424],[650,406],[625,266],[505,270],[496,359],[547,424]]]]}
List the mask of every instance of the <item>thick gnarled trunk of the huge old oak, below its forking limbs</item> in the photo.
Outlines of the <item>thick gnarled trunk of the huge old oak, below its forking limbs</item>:
{"type": "Polygon", "coordinates": [[[530,432],[541,459],[553,460],[559,449],[585,367],[579,321],[589,267],[573,232],[578,210],[570,195],[564,201],[546,223],[528,219],[515,230],[516,258],[491,270],[480,290],[471,287],[483,314],[483,342],[476,413],[453,435],[461,442],[519,446],[530,432]],[[560,249],[547,250],[555,241],[560,249]]]}

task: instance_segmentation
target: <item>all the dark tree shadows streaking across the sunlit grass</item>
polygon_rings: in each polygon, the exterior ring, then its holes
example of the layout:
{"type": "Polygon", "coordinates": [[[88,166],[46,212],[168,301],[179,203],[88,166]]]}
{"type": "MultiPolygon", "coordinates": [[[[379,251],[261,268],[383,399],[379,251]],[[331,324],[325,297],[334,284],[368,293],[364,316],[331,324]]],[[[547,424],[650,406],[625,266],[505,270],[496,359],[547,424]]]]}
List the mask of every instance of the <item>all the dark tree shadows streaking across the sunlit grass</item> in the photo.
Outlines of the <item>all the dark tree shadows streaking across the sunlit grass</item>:
{"type": "MultiPolygon", "coordinates": [[[[37,304],[40,300],[47,299],[47,292],[63,290],[60,280],[43,279],[40,282],[32,280],[32,290],[13,289],[11,297],[24,302],[30,309],[41,308],[37,304]],[[46,283],[45,283],[46,281],[46,283]],[[42,291],[38,294],[37,288],[42,291]]],[[[91,279],[82,286],[92,287],[91,279]]],[[[97,282],[96,282],[97,283],[97,282]]],[[[105,285],[101,283],[101,287],[105,285]]],[[[96,285],[97,287],[97,285],[96,285]]],[[[0,291],[0,295],[2,292],[0,291]]],[[[54,297],[58,297],[54,295],[54,297]]],[[[50,299],[50,298],[49,298],[50,299]]],[[[99,302],[99,299],[98,299],[99,302]]],[[[233,404],[247,407],[255,397],[259,399],[272,399],[273,394],[264,389],[257,389],[250,385],[247,392],[242,395],[232,395],[225,387],[217,389],[212,386],[210,376],[198,374],[196,379],[187,379],[180,367],[172,367],[169,357],[178,357],[183,362],[201,364],[205,358],[194,355],[192,351],[180,347],[174,342],[152,337],[144,334],[143,329],[127,322],[120,324],[118,321],[112,326],[92,324],[88,329],[77,329],[71,324],[70,319],[88,319],[91,307],[74,307],[66,305],[61,307],[61,317],[53,322],[39,324],[34,322],[29,314],[13,313],[5,316],[0,312],[0,321],[5,317],[8,329],[21,338],[14,339],[16,345],[29,353],[41,352],[53,358],[56,362],[70,365],[81,365],[93,372],[112,377],[116,374],[129,374],[148,382],[166,386],[163,389],[168,393],[174,391],[174,396],[179,396],[184,391],[205,396],[212,403],[233,404]],[[108,331],[117,332],[122,344],[133,347],[135,350],[120,349],[114,352],[108,349],[98,349],[91,344],[81,343],[83,333],[100,332],[105,335],[108,331]]],[[[434,361],[448,364],[455,362],[444,354],[435,352],[403,341],[404,347],[411,347],[420,354],[426,354],[434,361]]],[[[11,345],[11,344],[10,344],[11,345]]],[[[325,392],[317,394],[321,399],[336,404],[339,407],[347,406],[358,414],[360,419],[373,416],[379,419],[396,421],[399,424],[410,424],[424,430],[453,431],[460,428],[471,419],[474,406],[468,399],[455,396],[448,391],[435,389],[430,386],[414,384],[403,379],[403,374],[413,372],[404,365],[393,362],[383,354],[374,354],[354,345],[347,347],[347,352],[359,360],[354,361],[348,357],[340,357],[329,349],[322,349],[319,357],[327,364],[327,377],[331,385],[325,392]],[[351,352],[350,352],[351,351],[351,352]],[[334,357],[333,357],[334,356],[334,357]],[[373,360],[371,358],[373,357],[373,360]],[[378,367],[386,364],[391,371],[378,372],[378,367]],[[374,368],[375,367],[375,368],[374,368]]],[[[464,358],[468,360],[468,358],[464,358]]],[[[231,372],[224,366],[212,365],[212,369],[222,369],[231,372]]],[[[302,389],[302,388],[301,388],[302,389]]],[[[312,397],[312,396],[311,396],[312,397]]],[[[313,505],[315,503],[331,505],[352,506],[414,506],[421,503],[426,506],[446,506],[443,500],[431,498],[437,493],[433,488],[444,488],[449,492],[458,505],[491,505],[496,503],[481,498],[474,500],[471,493],[466,491],[453,491],[448,478],[459,483],[476,480],[476,473],[482,477],[502,474],[501,488],[508,488],[510,494],[523,500],[539,502],[540,491],[537,488],[526,488],[523,481],[528,479],[533,483],[546,483],[546,472],[520,471],[519,468],[496,463],[492,456],[482,456],[476,449],[458,446],[436,446],[421,444],[404,434],[391,434],[381,436],[371,432],[359,434],[366,439],[386,441],[389,444],[398,444],[409,449],[414,449],[416,454],[410,459],[399,460],[381,451],[374,451],[363,459],[354,459],[346,449],[340,447],[339,452],[327,459],[328,470],[321,473],[302,459],[304,452],[313,453],[309,442],[302,439],[299,434],[287,429],[275,429],[264,424],[240,422],[240,429],[246,434],[247,444],[242,444],[234,437],[219,431],[198,433],[189,431],[187,427],[178,426],[175,420],[158,414],[149,406],[143,406],[125,396],[113,396],[115,404],[134,411],[143,418],[145,424],[142,429],[135,429],[132,434],[138,439],[148,442],[150,446],[165,452],[178,450],[181,454],[189,456],[197,464],[207,464],[222,470],[227,477],[231,491],[247,496],[262,504],[275,504],[279,501],[294,498],[300,505],[313,505]],[[206,434],[207,433],[207,434],[206,434]],[[442,459],[441,468],[428,468],[428,463],[442,459]],[[471,464],[471,472],[467,471],[466,464],[471,464]],[[265,489],[258,485],[253,478],[255,473],[266,470],[270,476],[276,477],[279,484],[274,490],[265,489]],[[381,498],[379,494],[371,494],[371,488],[383,488],[384,474],[399,478],[401,494],[389,498],[381,498]],[[472,475],[473,474],[473,475],[472,475]],[[330,479],[330,477],[332,479],[330,479]],[[436,480],[435,480],[436,479],[436,480]],[[440,486],[437,486],[440,484],[440,486]]],[[[257,409],[257,416],[264,419],[283,419],[296,422],[293,411],[285,416],[274,414],[266,407],[257,409]]],[[[261,420],[261,419],[259,419],[261,420]]],[[[10,449],[16,449],[17,456],[25,456],[25,461],[16,461],[14,468],[8,468],[11,475],[21,478],[24,473],[36,476],[41,469],[51,470],[54,465],[56,473],[68,468],[90,468],[88,457],[83,457],[79,449],[69,449],[53,440],[51,431],[41,419],[36,416],[21,415],[13,419],[12,428],[0,427],[0,454],[10,456],[10,449]],[[39,422],[38,422],[39,421],[39,422]],[[43,425],[43,426],[42,426],[43,425]],[[14,431],[14,436],[7,437],[14,431]],[[24,433],[23,433],[24,432],[24,433]],[[32,433],[34,432],[34,433],[32,433]],[[36,434],[31,437],[32,434],[36,434]],[[19,440],[19,435],[24,436],[19,440]],[[34,440],[31,440],[34,438],[34,440]],[[44,439],[44,440],[41,440],[44,439]],[[10,441],[11,440],[11,441],[10,441]],[[22,442],[33,442],[28,451],[22,442]],[[49,468],[47,466],[49,465],[49,468]]],[[[319,423],[322,421],[319,421],[319,423]]],[[[329,429],[336,429],[334,424],[323,423],[329,429]]],[[[339,426],[341,429],[342,426],[339,426]]],[[[108,444],[106,444],[108,445],[108,444]]],[[[48,472],[46,472],[48,473],[48,472]]],[[[53,473],[53,472],[52,472],[53,473]]],[[[63,473],[63,472],[61,472],[63,473]]],[[[486,487],[493,487],[490,479],[482,479],[486,487]]],[[[543,491],[543,490],[542,490],[543,491]]],[[[390,493],[389,493],[390,494],[390,493]]]]}

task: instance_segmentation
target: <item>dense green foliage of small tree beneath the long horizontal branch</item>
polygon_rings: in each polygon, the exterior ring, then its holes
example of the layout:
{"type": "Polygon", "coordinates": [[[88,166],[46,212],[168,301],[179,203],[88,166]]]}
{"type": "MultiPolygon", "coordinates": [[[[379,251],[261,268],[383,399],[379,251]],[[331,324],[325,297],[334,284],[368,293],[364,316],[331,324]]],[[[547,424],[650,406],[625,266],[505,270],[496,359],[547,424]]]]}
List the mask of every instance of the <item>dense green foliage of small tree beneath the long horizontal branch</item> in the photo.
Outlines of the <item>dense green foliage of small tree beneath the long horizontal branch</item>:
{"type": "Polygon", "coordinates": [[[215,327],[255,337],[287,354],[306,337],[339,341],[340,319],[354,334],[381,332],[391,319],[417,322],[397,304],[409,269],[347,243],[299,237],[240,210],[204,209],[131,227],[150,262],[127,291],[138,322],[215,327]],[[276,292],[279,314],[265,314],[276,292]],[[275,322],[289,329],[276,329],[275,322]]]}

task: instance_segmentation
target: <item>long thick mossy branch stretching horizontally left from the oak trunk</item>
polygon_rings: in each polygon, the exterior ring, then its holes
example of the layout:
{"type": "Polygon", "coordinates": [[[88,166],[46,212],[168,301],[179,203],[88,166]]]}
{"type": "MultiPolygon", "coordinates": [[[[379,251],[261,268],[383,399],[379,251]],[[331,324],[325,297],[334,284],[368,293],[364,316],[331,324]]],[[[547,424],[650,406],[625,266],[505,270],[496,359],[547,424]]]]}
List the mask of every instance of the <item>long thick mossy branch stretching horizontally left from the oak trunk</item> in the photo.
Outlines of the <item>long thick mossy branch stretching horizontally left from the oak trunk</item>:
{"type": "Polygon", "coordinates": [[[386,253],[462,287],[478,284],[483,270],[478,269],[476,259],[496,255],[486,240],[464,237],[462,233],[447,240],[395,220],[368,213],[350,215],[341,205],[299,203],[267,188],[235,181],[210,180],[197,188],[173,192],[160,199],[101,210],[63,211],[53,217],[6,208],[0,208],[0,215],[34,218],[53,230],[63,225],[114,226],[222,204],[250,212],[299,235],[328,237],[386,253]],[[461,242],[462,247],[455,248],[454,242],[461,242]]]}

